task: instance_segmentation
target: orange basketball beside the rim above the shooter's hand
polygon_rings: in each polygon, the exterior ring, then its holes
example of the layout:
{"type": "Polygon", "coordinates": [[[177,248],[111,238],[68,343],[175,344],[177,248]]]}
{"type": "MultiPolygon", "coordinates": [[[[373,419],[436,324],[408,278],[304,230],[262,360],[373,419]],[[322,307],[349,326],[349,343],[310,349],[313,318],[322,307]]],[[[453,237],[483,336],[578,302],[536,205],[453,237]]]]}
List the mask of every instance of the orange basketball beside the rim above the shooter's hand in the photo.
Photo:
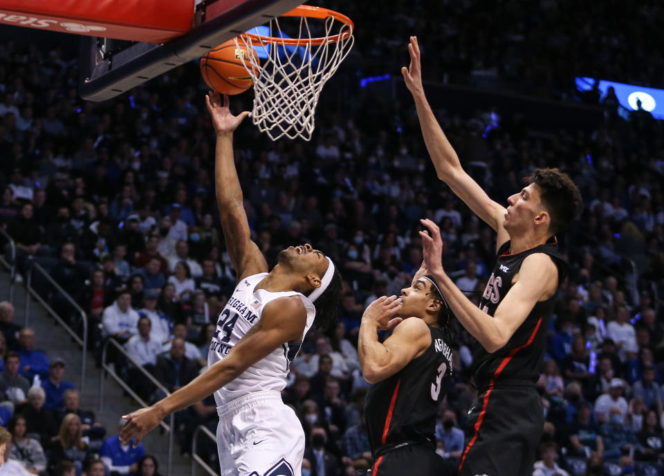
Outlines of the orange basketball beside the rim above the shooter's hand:
{"type": "MultiPolygon", "coordinates": [[[[260,63],[254,48],[250,50],[256,62],[260,63]]],[[[201,75],[205,84],[217,93],[228,95],[243,93],[249,89],[253,81],[242,64],[241,55],[250,66],[246,46],[237,46],[234,40],[230,39],[201,57],[201,75]]]]}

